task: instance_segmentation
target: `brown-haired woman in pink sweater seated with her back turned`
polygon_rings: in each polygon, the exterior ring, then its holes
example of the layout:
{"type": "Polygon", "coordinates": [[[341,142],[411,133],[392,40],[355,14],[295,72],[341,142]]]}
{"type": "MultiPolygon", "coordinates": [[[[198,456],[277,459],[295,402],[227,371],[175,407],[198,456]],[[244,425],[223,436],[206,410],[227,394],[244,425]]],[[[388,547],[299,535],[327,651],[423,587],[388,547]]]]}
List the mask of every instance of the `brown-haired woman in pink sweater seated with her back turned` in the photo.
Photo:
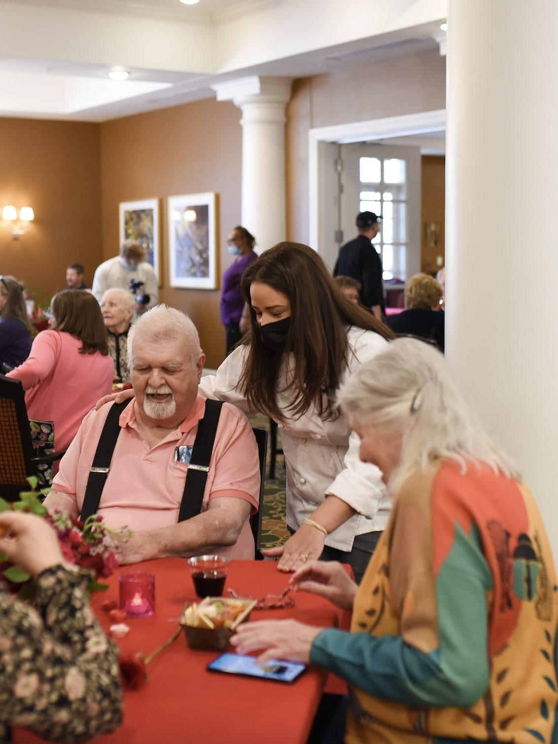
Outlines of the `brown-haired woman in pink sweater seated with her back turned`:
{"type": "Polygon", "coordinates": [[[30,419],[54,421],[55,449],[62,452],[112,390],[115,365],[93,295],[64,289],[52,298],[51,312],[51,330],[36,336],[28,359],[7,376],[22,381],[30,419]]]}

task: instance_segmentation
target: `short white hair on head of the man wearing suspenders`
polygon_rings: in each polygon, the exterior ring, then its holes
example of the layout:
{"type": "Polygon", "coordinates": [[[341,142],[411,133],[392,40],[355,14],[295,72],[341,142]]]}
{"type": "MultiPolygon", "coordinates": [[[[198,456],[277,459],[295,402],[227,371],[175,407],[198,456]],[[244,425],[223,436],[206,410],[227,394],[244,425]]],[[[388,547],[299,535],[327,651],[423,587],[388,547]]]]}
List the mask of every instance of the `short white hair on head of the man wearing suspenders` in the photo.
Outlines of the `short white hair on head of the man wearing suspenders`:
{"type": "Polygon", "coordinates": [[[140,339],[141,341],[153,341],[153,343],[179,339],[184,342],[193,365],[202,353],[196,326],[184,312],[174,307],[167,307],[167,305],[155,305],[151,310],[144,312],[144,315],[141,315],[130,328],[127,352],[130,369],[133,363],[134,343],[140,339]]]}

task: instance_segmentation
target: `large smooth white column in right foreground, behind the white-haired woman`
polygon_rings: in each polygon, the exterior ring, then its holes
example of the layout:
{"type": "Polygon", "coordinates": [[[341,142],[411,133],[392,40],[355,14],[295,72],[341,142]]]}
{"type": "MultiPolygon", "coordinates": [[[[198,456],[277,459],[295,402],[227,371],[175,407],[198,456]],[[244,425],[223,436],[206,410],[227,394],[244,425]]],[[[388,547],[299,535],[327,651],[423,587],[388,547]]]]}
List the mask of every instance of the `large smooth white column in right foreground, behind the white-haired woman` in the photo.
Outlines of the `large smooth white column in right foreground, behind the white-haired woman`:
{"type": "Polygon", "coordinates": [[[446,357],[558,558],[558,3],[448,6],[446,357]]]}

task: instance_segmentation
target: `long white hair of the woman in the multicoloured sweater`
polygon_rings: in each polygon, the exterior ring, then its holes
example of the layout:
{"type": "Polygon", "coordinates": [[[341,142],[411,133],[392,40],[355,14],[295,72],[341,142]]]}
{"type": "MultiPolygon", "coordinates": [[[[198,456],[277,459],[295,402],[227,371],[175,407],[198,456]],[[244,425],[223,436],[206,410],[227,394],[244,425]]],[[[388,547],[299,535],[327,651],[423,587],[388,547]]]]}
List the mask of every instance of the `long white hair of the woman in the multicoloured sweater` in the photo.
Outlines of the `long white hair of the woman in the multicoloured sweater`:
{"type": "Polygon", "coordinates": [[[337,402],[364,430],[403,435],[389,483],[393,493],[435,457],[457,461],[463,473],[476,462],[521,478],[466,405],[442,354],[424,341],[391,341],[343,382],[337,402]]]}

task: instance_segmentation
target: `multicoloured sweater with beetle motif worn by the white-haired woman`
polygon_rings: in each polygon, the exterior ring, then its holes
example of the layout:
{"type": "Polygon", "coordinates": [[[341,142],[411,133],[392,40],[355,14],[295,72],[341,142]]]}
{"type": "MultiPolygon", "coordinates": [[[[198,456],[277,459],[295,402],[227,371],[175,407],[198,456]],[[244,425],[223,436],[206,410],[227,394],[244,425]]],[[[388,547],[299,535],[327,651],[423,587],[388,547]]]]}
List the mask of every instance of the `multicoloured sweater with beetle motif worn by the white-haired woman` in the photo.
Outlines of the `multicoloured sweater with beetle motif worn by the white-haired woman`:
{"type": "Polygon", "coordinates": [[[349,744],[558,742],[557,577],[522,484],[445,462],[397,496],[353,606],[311,661],[350,684],[349,744]]]}

